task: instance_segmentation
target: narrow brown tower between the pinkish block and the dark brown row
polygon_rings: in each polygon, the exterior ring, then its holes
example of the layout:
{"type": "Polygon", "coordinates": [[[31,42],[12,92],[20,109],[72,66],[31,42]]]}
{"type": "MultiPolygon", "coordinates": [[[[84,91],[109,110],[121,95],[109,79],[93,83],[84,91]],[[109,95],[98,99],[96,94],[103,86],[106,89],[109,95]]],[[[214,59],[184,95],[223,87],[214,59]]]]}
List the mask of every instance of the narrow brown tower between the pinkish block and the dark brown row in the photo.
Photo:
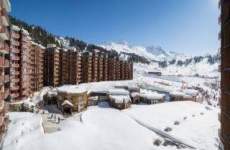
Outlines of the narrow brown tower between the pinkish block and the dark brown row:
{"type": "Polygon", "coordinates": [[[44,79],[43,79],[43,70],[44,70],[44,52],[45,47],[37,44],[35,42],[31,42],[31,90],[32,92],[39,91],[43,87],[44,79]]]}

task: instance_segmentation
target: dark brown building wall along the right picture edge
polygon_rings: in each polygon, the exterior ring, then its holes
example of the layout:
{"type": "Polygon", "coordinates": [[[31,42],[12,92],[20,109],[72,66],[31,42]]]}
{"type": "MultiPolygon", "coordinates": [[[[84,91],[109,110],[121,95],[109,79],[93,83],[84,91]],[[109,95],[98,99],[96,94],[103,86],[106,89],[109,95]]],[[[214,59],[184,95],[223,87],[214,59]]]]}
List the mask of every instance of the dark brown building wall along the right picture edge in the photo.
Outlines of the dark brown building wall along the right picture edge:
{"type": "Polygon", "coordinates": [[[220,0],[221,7],[221,131],[222,149],[230,149],[230,1],[220,0]]]}

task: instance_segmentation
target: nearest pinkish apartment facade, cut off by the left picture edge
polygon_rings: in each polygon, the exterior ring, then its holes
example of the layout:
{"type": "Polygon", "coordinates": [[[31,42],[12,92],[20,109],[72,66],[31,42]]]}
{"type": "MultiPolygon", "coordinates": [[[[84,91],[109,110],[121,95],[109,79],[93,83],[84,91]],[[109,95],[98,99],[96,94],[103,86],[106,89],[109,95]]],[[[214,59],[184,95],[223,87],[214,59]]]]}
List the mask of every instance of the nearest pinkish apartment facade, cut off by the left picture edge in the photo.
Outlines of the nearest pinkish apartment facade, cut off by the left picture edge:
{"type": "Polygon", "coordinates": [[[9,100],[9,18],[8,12],[10,12],[11,6],[8,0],[0,1],[0,140],[6,129],[6,117],[5,117],[5,103],[4,100],[9,100]]]}

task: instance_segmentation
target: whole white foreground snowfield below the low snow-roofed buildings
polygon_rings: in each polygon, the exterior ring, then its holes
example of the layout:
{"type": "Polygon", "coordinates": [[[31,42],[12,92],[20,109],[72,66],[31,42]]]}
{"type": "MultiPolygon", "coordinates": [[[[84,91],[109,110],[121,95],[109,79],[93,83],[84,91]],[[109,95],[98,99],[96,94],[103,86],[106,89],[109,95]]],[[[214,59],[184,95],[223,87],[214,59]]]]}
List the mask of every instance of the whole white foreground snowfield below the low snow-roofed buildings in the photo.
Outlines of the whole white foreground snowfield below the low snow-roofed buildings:
{"type": "Polygon", "coordinates": [[[198,149],[216,150],[218,110],[195,102],[170,102],[155,105],[132,105],[119,111],[107,103],[89,107],[60,124],[57,132],[44,134],[41,115],[9,113],[10,125],[4,150],[173,150],[175,146],[155,146],[159,135],[136,120],[162,131],[171,127],[171,136],[198,149]],[[163,111],[162,111],[163,110],[163,111]],[[144,115],[143,115],[144,114],[144,115]],[[185,117],[186,120],[184,119],[185,117]],[[178,121],[179,125],[174,125],[178,121]]]}

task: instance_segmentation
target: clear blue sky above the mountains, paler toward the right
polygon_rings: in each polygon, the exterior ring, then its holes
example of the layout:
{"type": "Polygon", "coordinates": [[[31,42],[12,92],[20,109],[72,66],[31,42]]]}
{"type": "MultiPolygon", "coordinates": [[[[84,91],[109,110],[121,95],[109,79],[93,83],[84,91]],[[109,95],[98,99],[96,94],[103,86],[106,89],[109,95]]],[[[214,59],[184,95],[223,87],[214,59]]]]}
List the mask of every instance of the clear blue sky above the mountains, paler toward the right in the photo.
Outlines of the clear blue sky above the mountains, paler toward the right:
{"type": "Polygon", "coordinates": [[[127,41],[191,55],[219,48],[217,0],[11,0],[12,13],[60,36],[127,41]]]}

